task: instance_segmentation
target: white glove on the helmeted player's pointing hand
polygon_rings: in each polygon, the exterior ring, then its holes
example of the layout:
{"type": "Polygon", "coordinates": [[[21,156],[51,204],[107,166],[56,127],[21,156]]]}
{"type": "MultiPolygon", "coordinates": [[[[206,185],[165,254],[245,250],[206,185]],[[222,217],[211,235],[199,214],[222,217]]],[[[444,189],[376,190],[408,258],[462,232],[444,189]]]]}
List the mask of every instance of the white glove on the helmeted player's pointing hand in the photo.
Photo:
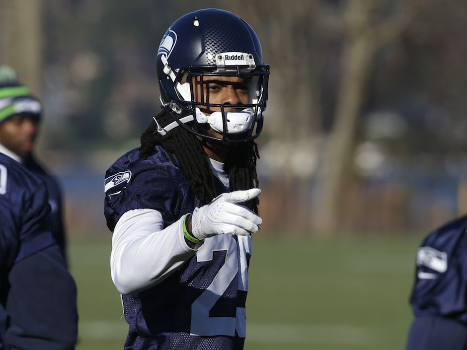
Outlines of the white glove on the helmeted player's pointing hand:
{"type": "Polygon", "coordinates": [[[201,208],[195,208],[191,215],[192,235],[205,239],[216,234],[238,234],[248,236],[258,231],[263,221],[253,211],[236,203],[256,198],[261,193],[258,188],[246,191],[223,193],[201,208]]]}

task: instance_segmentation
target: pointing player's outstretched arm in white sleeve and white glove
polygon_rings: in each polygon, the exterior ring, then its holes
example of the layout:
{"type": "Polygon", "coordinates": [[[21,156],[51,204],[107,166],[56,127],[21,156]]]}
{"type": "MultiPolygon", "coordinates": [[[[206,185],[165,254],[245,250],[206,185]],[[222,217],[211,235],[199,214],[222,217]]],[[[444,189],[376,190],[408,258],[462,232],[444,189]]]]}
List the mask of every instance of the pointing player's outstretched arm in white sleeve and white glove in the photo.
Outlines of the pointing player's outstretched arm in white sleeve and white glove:
{"type": "MultiPolygon", "coordinates": [[[[256,232],[261,218],[238,203],[259,193],[259,189],[224,193],[195,209],[192,216],[200,222],[198,231],[206,232],[198,236],[204,239],[215,234],[256,232]]],[[[129,210],[121,216],[115,225],[110,256],[112,280],[120,293],[131,294],[156,285],[196,254],[203,241],[184,238],[185,218],[163,228],[162,214],[157,210],[129,210]]]]}

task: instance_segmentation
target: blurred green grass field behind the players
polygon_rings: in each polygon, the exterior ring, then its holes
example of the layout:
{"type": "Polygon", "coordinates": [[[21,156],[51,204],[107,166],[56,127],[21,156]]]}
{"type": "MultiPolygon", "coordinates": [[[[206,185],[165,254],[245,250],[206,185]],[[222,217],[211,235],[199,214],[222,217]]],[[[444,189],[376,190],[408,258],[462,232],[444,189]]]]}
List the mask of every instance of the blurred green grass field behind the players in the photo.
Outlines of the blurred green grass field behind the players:
{"type": "MultiPolygon", "coordinates": [[[[77,350],[123,349],[127,326],[110,279],[110,233],[70,240],[77,350]]],[[[253,239],[245,350],[403,349],[421,237],[253,239]]]]}

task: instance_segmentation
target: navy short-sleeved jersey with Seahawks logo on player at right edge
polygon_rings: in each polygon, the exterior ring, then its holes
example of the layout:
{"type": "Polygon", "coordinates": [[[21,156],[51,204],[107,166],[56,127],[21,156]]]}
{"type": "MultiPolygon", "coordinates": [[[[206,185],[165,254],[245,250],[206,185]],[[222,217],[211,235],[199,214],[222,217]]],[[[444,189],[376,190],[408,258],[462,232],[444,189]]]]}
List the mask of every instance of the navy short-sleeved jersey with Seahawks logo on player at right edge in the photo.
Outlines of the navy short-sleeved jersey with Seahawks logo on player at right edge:
{"type": "Polygon", "coordinates": [[[467,322],[467,216],[429,234],[417,252],[410,303],[416,316],[467,322]]]}

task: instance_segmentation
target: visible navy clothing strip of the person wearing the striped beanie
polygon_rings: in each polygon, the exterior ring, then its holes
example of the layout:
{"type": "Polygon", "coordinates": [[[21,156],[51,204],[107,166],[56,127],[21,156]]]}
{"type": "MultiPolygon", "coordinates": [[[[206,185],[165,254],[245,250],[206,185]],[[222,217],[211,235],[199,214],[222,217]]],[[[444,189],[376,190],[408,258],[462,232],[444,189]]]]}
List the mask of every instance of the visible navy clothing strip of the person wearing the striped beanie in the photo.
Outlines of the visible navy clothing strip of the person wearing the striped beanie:
{"type": "Polygon", "coordinates": [[[26,157],[22,163],[34,175],[44,180],[50,205],[50,222],[52,235],[66,258],[66,236],[63,224],[62,192],[55,177],[47,173],[32,155],[26,157]]]}

